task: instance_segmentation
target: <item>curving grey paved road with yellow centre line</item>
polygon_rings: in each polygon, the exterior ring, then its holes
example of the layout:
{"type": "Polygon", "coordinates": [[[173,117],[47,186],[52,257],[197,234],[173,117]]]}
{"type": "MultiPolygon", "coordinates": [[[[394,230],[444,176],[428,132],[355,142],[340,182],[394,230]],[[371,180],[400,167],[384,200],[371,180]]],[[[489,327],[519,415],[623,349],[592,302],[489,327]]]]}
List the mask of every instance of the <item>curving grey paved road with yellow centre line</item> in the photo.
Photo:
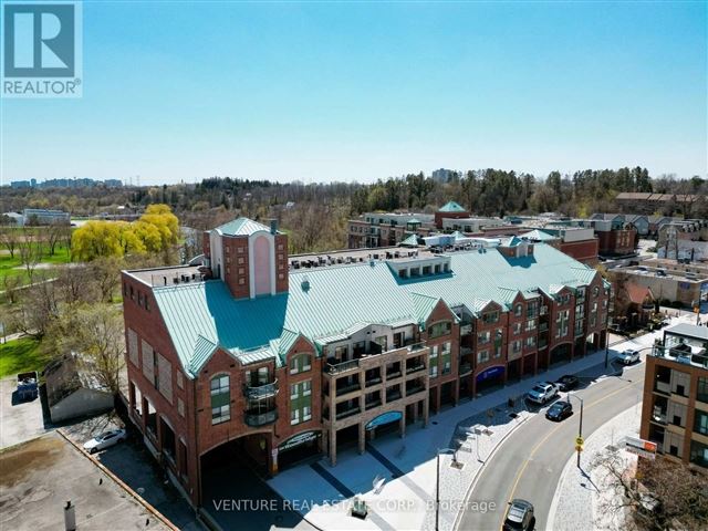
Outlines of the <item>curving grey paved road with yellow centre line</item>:
{"type": "MultiPolygon", "coordinates": [[[[626,368],[621,376],[612,376],[577,391],[577,396],[583,398],[585,406],[583,437],[587,438],[604,423],[641,402],[643,385],[644,363],[626,368]]],[[[565,394],[562,395],[565,399],[565,394]]],[[[487,513],[468,511],[462,516],[458,529],[498,531],[507,502],[512,498],[532,502],[535,508],[535,529],[546,529],[549,508],[563,467],[575,451],[580,404],[579,400],[571,402],[575,413],[568,419],[552,423],[543,415],[544,408],[541,414],[518,428],[499,448],[486,464],[469,499],[478,502],[493,501],[497,510],[487,513]]],[[[471,503],[468,507],[472,507],[471,503]]]]}

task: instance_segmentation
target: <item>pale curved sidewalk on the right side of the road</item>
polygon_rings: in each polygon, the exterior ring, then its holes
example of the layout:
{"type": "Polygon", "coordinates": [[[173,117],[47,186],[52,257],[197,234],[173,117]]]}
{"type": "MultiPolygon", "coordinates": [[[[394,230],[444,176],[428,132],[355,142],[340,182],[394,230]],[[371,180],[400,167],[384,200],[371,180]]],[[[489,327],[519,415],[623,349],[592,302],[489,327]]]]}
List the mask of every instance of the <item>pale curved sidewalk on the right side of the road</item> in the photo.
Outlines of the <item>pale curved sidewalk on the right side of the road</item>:
{"type": "MultiPolygon", "coordinates": [[[[575,456],[568,461],[549,511],[549,530],[624,529],[622,514],[611,514],[601,509],[604,497],[613,496],[614,491],[606,486],[606,475],[593,469],[591,464],[608,446],[617,446],[626,436],[638,436],[641,417],[639,403],[604,424],[586,439],[582,469],[576,467],[575,456]]],[[[636,462],[636,456],[620,451],[626,458],[627,467],[636,462]]]]}

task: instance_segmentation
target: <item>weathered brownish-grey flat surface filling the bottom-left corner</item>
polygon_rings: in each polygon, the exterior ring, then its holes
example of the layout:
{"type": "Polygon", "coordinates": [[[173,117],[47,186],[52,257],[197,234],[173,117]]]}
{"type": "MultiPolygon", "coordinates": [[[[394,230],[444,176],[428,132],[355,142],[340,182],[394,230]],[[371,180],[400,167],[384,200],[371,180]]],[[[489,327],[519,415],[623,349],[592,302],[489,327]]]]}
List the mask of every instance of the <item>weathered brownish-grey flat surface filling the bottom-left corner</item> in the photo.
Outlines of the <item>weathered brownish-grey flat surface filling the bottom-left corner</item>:
{"type": "Polygon", "coordinates": [[[55,431],[0,452],[0,529],[63,529],[67,500],[77,529],[169,529],[55,431]]]}

